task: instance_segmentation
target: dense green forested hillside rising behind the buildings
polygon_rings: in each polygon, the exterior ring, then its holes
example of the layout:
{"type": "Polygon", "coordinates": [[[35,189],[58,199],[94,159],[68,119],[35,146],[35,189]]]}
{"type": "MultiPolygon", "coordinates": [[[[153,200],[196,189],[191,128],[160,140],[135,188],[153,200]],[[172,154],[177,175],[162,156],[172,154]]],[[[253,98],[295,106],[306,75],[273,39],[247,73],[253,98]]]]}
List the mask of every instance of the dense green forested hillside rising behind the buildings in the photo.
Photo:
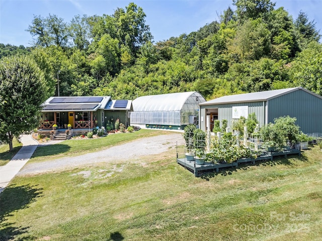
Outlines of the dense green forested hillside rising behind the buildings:
{"type": "MultiPolygon", "coordinates": [[[[48,94],[113,99],[200,91],[226,94],[303,86],[322,95],[322,45],[314,20],[296,19],[270,0],[233,0],[220,18],[190,34],[153,42],[143,9],[114,14],[34,16],[34,46],[0,45],[0,57],[28,54],[43,70],[48,94]],[[59,71],[59,73],[58,73],[59,71]]],[[[174,23],[175,24],[175,23],[174,23]]]]}

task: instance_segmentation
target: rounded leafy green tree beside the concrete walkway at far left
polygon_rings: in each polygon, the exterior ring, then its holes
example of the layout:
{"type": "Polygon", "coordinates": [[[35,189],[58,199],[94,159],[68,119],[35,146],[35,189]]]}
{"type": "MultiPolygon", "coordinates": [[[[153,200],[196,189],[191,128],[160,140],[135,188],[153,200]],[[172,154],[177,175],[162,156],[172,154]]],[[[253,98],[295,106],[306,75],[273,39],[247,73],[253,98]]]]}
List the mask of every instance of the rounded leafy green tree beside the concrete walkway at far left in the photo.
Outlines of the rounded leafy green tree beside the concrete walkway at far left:
{"type": "Polygon", "coordinates": [[[44,76],[28,56],[0,60],[0,139],[9,144],[20,135],[38,127],[38,116],[45,100],[44,76]]]}

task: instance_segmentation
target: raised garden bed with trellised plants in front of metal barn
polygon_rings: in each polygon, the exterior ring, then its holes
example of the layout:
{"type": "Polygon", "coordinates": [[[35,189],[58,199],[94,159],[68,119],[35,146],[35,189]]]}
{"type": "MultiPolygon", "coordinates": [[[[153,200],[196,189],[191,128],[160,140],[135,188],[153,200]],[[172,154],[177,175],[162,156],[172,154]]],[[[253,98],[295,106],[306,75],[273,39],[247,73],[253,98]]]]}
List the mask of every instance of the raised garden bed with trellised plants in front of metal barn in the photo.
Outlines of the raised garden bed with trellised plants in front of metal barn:
{"type": "Polygon", "coordinates": [[[314,144],[319,145],[322,151],[322,137],[302,133],[296,125],[296,118],[290,116],[275,118],[274,123],[260,128],[255,113],[251,113],[247,119],[234,119],[231,131],[226,120],[222,120],[221,128],[220,122],[215,121],[213,133],[215,135],[188,125],[183,134],[186,143],[184,163],[182,158],[178,159],[178,163],[185,167],[193,164],[191,171],[194,172],[196,164],[209,165],[209,169],[218,171],[221,167],[237,166],[238,163],[300,155],[301,150],[314,144]]]}

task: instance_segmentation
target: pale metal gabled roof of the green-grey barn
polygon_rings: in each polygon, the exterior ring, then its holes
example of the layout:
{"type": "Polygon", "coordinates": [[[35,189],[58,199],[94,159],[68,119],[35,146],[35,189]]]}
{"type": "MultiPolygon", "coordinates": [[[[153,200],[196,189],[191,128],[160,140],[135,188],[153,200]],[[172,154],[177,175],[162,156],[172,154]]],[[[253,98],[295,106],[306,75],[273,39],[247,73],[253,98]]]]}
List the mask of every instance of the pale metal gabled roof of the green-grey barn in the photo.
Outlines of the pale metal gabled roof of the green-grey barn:
{"type": "Polygon", "coordinates": [[[212,100],[200,103],[199,105],[267,101],[296,90],[303,90],[305,92],[308,92],[322,99],[322,96],[315,94],[305,88],[295,87],[295,88],[276,89],[276,90],[268,90],[268,91],[246,93],[246,94],[226,95],[226,96],[222,96],[216,99],[212,99],[212,100]]]}

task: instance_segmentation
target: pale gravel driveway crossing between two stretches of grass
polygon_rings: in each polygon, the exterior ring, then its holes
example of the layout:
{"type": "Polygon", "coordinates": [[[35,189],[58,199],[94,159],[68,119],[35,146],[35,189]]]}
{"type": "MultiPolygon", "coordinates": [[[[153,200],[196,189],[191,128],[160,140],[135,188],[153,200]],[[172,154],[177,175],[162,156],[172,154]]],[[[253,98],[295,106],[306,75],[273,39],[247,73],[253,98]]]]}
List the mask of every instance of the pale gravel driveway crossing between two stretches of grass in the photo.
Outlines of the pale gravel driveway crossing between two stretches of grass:
{"type": "MultiPolygon", "coordinates": [[[[77,140],[75,140],[76,142],[77,140]]],[[[105,150],[88,153],[75,157],[64,157],[41,163],[26,164],[17,175],[37,174],[48,171],[62,170],[84,164],[110,162],[110,161],[135,161],[142,156],[163,153],[178,145],[184,145],[182,133],[172,133],[156,137],[142,138],[105,150]]],[[[52,148],[55,148],[54,145],[52,148]]]]}

